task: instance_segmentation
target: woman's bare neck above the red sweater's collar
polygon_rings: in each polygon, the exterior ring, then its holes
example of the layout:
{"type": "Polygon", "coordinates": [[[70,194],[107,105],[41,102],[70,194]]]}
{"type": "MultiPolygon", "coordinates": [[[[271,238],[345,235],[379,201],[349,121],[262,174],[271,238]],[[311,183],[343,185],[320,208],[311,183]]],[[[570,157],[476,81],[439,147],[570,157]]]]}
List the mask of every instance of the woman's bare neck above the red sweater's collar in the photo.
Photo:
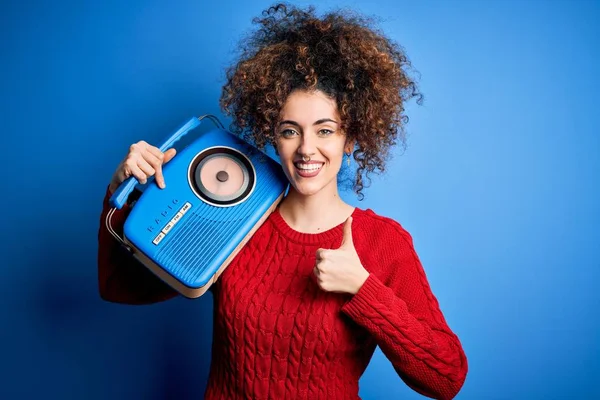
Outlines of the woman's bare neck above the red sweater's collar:
{"type": "Polygon", "coordinates": [[[294,230],[319,233],[343,223],[354,210],[336,190],[321,190],[310,196],[298,193],[293,186],[279,206],[279,213],[294,230]]]}

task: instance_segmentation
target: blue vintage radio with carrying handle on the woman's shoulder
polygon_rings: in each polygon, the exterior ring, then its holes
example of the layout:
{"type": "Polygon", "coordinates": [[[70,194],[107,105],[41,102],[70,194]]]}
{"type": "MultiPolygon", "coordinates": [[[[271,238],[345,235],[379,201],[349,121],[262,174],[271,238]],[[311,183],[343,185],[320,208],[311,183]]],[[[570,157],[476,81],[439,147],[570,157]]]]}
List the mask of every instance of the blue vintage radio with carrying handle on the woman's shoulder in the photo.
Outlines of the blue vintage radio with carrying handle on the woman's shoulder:
{"type": "MultiPolygon", "coordinates": [[[[187,298],[203,295],[277,207],[288,181],[281,165],[217,125],[163,167],[167,184],[147,183],[120,237],[111,217],[139,184],[124,181],[110,199],[109,231],[142,264],[187,298]]],[[[192,118],[164,143],[166,151],[201,118],[192,118]]]]}

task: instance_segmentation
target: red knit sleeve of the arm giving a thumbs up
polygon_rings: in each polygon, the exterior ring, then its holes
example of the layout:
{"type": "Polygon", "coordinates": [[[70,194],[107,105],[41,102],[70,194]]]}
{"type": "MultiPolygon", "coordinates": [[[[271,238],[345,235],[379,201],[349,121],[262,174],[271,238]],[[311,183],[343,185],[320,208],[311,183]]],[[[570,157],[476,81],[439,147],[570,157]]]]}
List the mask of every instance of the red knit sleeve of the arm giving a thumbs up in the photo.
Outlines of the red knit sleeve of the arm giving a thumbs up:
{"type": "Polygon", "coordinates": [[[466,379],[467,359],[431,292],[410,235],[395,228],[391,236],[397,240],[388,247],[394,251],[391,265],[371,272],[342,311],[371,333],[409,387],[430,398],[452,399],[466,379]]]}

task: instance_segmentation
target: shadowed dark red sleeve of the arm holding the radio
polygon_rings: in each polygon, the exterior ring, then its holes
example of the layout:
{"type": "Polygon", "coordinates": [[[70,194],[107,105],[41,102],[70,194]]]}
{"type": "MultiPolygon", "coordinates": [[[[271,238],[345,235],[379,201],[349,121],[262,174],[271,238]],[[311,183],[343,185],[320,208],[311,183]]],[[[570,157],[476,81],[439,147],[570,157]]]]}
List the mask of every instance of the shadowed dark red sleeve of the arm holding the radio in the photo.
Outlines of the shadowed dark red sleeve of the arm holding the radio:
{"type": "MultiPolygon", "coordinates": [[[[150,304],[177,296],[177,292],[135,259],[106,227],[111,207],[106,191],[98,230],[98,289],[106,301],[124,304],[150,304]]],[[[123,225],[131,211],[126,204],[111,218],[113,229],[123,233],[123,225]]]]}

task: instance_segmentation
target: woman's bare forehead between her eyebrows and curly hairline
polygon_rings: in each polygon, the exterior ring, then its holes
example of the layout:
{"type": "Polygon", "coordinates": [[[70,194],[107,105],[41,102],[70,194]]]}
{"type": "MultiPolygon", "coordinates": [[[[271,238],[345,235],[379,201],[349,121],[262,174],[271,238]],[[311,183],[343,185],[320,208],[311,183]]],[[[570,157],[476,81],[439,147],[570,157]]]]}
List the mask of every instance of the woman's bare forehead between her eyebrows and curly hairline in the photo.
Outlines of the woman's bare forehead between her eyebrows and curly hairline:
{"type": "Polygon", "coordinates": [[[293,119],[297,122],[314,122],[323,118],[338,120],[336,101],[321,91],[296,90],[292,92],[282,110],[282,119],[293,119]]]}

